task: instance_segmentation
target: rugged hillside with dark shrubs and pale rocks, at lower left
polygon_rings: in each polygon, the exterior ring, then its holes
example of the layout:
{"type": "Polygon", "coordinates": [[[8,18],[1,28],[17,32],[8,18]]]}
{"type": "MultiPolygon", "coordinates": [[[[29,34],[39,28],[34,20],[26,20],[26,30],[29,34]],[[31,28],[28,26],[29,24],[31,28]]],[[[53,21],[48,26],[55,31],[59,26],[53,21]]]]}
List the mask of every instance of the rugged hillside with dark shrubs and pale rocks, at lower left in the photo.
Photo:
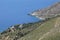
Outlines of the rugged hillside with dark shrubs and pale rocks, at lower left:
{"type": "Polygon", "coordinates": [[[3,31],[0,34],[0,40],[17,40],[27,35],[31,31],[35,30],[41,24],[42,23],[40,23],[39,21],[35,23],[18,24],[18,25],[11,26],[10,28],[8,28],[7,30],[3,31]]]}

